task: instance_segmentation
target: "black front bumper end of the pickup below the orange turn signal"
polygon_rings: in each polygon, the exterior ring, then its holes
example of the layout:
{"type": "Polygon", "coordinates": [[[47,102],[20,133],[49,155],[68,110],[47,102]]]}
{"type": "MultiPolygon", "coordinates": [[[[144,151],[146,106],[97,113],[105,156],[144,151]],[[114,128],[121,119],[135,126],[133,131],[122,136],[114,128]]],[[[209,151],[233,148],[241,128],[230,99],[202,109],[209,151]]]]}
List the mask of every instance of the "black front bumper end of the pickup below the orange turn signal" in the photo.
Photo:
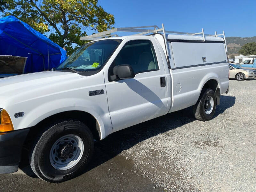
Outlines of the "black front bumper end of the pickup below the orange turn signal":
{"type": "Polygon", "coordinates": [[[28,132],[29,128],[0,134],[0,166],[19,164],[22,146],[28,132]]]}

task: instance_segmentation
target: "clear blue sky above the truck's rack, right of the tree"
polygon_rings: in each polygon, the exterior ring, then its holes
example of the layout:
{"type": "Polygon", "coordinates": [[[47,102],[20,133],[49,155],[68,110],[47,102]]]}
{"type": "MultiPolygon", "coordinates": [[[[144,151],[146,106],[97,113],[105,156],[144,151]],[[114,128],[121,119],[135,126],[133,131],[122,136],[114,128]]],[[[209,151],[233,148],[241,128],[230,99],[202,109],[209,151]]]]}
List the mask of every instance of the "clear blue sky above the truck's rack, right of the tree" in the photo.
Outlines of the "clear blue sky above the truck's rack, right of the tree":
{"type": "MultiPolygon", "coordinates": [[[[114,27],[164,23],[166,30],[256,36],[256,0],[99,0],[115,17],[114,27]]],[[[90,35],[91,32],[88,32],[90,35]]]]}

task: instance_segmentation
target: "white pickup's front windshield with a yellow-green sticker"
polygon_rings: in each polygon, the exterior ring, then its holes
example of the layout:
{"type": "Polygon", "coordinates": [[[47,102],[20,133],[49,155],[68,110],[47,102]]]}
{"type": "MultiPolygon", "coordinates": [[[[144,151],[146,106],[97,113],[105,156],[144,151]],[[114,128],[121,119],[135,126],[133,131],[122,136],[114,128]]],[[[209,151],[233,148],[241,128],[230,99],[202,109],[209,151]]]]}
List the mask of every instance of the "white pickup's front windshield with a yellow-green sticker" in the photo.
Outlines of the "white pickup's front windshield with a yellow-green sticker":
{"type": "Polygon", "coordinates": [[[109,39],[84,44],[68,57],[57,69],[71,68],[76,71],[99,70],[113,53],[120,39],[109,39]]]}

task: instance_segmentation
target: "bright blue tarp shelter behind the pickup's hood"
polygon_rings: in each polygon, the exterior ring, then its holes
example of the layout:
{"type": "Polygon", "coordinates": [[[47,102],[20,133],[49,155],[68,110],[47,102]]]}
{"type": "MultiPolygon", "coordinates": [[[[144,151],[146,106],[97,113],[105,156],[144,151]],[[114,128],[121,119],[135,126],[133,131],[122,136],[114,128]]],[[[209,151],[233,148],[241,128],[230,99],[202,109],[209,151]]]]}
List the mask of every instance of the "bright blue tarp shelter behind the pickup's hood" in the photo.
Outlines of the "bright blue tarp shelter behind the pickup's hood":
{"type": "Polygon", "coordinates": [[[24,73],[51,70],[67,59],[58,44],[13,16],[0,19],[0,55],[28,57],[24,73]]]}

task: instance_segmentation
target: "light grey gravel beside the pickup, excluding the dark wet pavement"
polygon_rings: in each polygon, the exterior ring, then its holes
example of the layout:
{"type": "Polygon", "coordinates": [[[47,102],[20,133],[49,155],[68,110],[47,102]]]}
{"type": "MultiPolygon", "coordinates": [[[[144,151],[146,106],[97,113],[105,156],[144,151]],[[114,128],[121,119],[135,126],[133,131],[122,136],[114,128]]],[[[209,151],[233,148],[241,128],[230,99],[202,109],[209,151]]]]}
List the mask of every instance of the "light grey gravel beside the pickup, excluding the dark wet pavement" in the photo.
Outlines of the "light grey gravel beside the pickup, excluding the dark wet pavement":
{"type": "Polygon", "coordinates": [[[255,100],[256,80],[230,80],[211,121],[187,108],[126,130],[114,145],[165,191],[256,191],[255,100]]]}

